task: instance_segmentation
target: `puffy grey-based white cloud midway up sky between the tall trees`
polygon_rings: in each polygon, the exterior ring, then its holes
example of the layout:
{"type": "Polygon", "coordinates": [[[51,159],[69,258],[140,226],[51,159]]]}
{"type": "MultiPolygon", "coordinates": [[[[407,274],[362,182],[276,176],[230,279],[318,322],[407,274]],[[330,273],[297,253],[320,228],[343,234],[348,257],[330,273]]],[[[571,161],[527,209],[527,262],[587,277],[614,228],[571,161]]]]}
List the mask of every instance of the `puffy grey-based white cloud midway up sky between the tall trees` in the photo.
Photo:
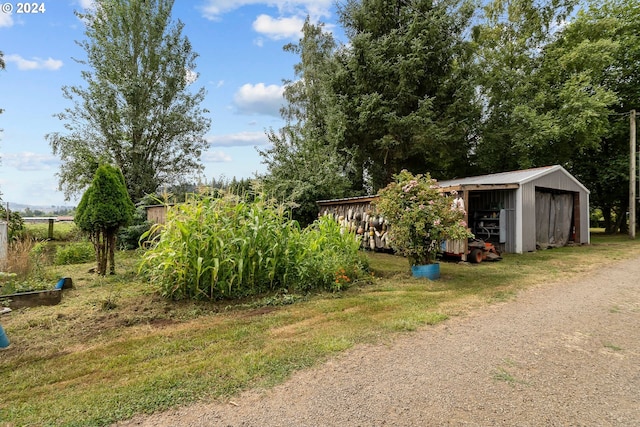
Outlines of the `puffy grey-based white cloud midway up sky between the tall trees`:
{"type": "Polygon", "coordinates": [[[241,114],[265,114],[280,117],[284,104],[284,86],[258,83],[243,85],[234,95],[234,104],[241,114]]]}

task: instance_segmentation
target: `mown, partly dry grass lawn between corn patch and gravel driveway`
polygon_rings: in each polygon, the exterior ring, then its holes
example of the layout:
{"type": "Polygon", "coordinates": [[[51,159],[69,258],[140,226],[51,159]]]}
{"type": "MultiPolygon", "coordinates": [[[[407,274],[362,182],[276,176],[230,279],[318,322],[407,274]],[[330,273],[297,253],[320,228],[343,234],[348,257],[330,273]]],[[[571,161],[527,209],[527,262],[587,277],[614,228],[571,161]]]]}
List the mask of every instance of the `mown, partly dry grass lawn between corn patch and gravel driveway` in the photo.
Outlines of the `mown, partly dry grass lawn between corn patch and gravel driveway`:
{"type": "Polygon", "coordinates": [[[52,276],[72,277],[75,288],[57,306],[0,317],[12,342],[0,352],[0,425],[108,425],[228,398],[354,345],[389,342],[638,255],[638,241],[594,235],[590,246],[446,262],[431,282],[412,278],[403,258],[370,254],[372,284],[216,303],[161,299],[136,276],[135,252],[119,253],[118,274],[106,278],[88,273],[92,264],[48,267],[52,276]]]}

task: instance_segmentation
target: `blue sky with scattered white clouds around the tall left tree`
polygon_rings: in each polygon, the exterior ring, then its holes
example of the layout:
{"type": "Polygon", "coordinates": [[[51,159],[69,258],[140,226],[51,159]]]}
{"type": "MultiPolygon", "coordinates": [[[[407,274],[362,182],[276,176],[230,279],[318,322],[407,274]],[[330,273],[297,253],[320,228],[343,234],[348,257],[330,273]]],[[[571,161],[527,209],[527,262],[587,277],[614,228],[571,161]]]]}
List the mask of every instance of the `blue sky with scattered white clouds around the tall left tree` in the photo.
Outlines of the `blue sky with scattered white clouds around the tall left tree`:
{"type": "MultiPolygon", "coordinates": [[[[54,117],[72,105],[62,87],[86,86],[87,68],[77,62],[86,54],[76,43],[85,28],[74,11],[86,11],[91,1],[36,2],[31,13],[20,4],[27,3],[0,0],[2,202],[75,206],[78,199],[65,201],[58,190],[61,162],[45,135],[65,131],[54,117]]],[[[183,35],[199,55],[194,87],[206,89],[201,106],[212,121],[202,156],[206,180],[266,171],[257,148],[267,147],[267,130],[283,125],[283,81],[294,78],[299,62],[283,46],[300,39],[307,16],[332,28],[334,0],[176,0],[173,20],[184,23],[183,35]]]]}

